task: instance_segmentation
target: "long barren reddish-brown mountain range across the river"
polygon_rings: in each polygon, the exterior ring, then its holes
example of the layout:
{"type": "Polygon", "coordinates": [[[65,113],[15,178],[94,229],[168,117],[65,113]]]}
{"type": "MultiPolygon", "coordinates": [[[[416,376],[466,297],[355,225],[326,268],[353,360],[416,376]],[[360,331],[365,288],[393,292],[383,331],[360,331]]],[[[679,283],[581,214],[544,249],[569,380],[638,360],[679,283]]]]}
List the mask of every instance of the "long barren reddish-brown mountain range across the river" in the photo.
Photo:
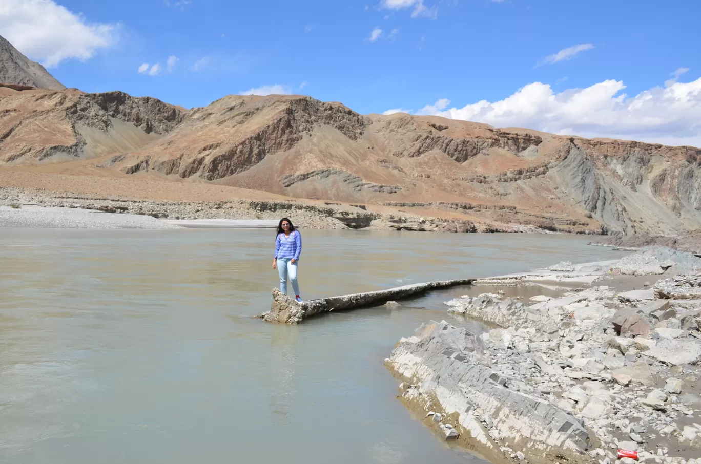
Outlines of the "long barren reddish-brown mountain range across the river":
{"type": "Polygon", "coordinates": [[[116,92],[0,92],[6,170],[205,182],[457,224],[627,234],[701,226],[701,150],[688,146],[362,116],[299,95],[230,95],[186,111],[116,92]]]}

